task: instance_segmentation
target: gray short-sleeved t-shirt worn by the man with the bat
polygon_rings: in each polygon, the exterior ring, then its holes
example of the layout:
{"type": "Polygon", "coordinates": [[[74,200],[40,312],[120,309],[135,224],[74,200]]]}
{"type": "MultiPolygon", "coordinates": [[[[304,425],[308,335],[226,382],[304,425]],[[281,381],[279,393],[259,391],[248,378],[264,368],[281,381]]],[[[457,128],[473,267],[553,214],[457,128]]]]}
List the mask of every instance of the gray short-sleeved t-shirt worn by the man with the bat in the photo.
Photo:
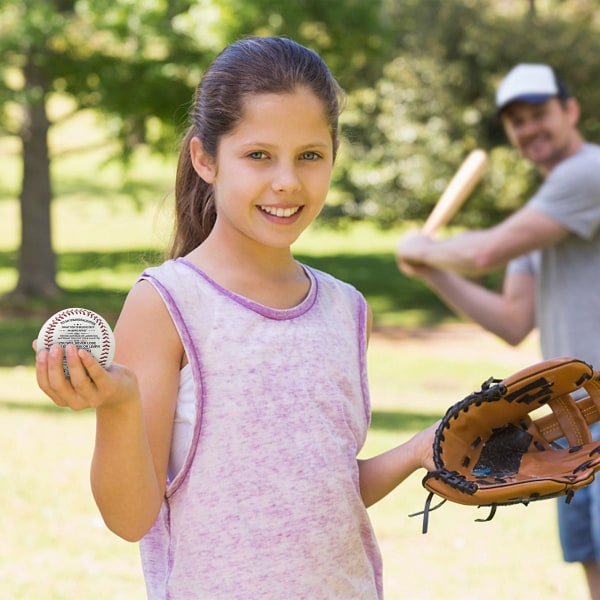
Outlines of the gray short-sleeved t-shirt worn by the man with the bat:
{"type": "Polygon", "coordinates": [[[600,369],[600,146],[561,162],[529,200],[571,235],[511,261],[536,276],[536,319],[544,359],[573,356],[600,369]]]}

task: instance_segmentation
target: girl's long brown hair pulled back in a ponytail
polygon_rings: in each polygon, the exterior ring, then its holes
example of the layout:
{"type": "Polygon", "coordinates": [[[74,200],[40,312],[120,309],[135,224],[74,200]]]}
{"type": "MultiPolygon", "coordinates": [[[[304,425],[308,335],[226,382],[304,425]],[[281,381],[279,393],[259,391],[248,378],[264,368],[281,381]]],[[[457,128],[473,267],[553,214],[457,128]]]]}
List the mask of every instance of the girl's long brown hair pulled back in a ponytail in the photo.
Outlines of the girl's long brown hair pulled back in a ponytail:
{"type": "Polygon", "coordinates": [[[239,123],[248,96],[290,93],[299,86],[307,87],[323,102],[335,156],[344,92],[316,52],[287,38],[248,37],[215,58],[196,89],[191,124],[179,153],[169,257],[184,256],[201,244],[217,216],[212,185],[193,168],[191,140],[197,137],[216,159],[220,138],[239,123]]]}

